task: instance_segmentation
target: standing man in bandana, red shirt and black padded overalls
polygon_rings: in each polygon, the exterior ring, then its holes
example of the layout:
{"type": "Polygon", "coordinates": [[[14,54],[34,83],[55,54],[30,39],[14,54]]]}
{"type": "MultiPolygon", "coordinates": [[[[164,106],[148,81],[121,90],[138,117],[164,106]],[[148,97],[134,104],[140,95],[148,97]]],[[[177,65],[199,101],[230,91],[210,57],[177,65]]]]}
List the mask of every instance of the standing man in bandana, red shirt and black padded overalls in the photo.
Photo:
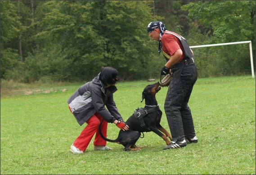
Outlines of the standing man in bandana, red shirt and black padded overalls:
{"type": "Polygon", "coordinates": [[[150,22],[147,32],[153,40],[159,42],[159,54],[162,51],[167,61],[161,70],[161,75],[173,73],[164,105],[172,141],[163,149],[180,148],[187,143],[197,143],[198,138],[188,106],[193,85],[198,78],[193,51],[184,37],[166,30],[162,21],[150,22]]]}

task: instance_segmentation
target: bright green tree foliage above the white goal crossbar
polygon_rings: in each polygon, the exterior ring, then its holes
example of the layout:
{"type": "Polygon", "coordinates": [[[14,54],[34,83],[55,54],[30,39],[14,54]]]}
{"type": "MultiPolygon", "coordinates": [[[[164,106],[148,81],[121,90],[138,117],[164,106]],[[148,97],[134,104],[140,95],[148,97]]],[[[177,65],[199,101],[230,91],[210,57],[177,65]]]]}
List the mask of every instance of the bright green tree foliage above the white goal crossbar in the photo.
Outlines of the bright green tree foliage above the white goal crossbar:
{"type": "Polygon", "coordinates": [[[202,25],[211,26],[218,42],[250,40],[255,43],[255,1],[199,1],[181,9],[189,10],[189,17],[202,25]]]}

